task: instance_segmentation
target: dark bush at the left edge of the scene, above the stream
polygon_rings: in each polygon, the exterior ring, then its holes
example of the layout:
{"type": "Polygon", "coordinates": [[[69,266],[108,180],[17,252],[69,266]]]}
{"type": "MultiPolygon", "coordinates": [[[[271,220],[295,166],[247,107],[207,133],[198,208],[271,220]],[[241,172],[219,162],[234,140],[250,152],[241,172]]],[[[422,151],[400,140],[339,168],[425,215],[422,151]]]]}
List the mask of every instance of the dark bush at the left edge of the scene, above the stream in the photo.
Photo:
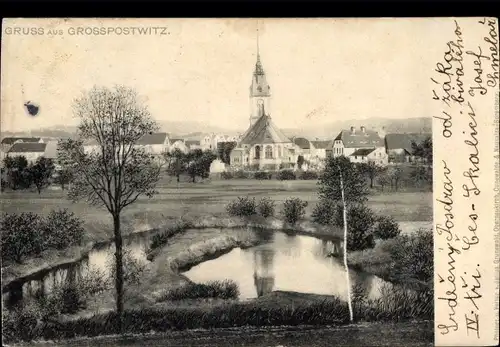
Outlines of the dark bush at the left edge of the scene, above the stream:
{"type": "Polygon", "coordinates": [[[43,239],[40,237],[42,220],[31,212],[4,214],[1,220],[2,260],[22,262],[27,256],[40,254],[43,239]]]}

